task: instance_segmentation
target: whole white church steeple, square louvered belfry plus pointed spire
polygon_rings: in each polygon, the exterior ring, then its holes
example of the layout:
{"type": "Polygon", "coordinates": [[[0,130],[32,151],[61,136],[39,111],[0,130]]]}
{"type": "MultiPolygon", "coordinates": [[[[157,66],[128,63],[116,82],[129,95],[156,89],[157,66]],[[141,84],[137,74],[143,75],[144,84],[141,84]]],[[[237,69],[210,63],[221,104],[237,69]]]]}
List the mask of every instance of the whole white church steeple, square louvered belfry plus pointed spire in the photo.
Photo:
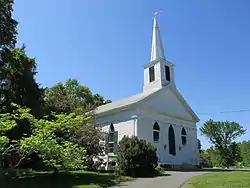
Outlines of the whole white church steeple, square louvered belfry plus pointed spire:
{"type": "Polygon", "coordinates": [[[157,12],[154,16],[150,62],[144,65],[143,91],[160,89],[168,84],[174,85],[174,65],[165,58],[160,28],[157,23],[158,14],[157,12]]]}

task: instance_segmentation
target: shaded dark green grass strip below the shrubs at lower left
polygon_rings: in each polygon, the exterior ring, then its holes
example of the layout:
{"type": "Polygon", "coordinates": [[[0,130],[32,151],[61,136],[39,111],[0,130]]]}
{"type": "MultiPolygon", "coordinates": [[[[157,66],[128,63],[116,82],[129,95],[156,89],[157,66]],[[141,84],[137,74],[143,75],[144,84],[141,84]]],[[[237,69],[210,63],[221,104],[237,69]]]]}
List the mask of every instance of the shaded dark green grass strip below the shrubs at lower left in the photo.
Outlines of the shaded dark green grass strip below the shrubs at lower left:
{"type": "Polygon", "coordinates": [[[115,174],[89,171],[35,172],[33,177],[5,178],[0,180],[0,187],[4,188],[97,188],[109,187],[122,181],[132,180],[131,177],[115,174]]]}

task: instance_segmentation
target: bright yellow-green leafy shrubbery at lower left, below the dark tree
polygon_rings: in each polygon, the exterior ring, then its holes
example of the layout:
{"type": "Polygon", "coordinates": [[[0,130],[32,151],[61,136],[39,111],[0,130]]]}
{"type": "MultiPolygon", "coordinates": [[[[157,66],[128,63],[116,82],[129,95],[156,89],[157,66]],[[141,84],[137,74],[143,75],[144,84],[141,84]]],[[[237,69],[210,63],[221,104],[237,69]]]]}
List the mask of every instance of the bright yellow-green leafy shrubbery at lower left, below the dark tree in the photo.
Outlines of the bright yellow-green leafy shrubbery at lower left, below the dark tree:
{"type": "MultiPolygon", "coordinates": [[[[15,107],[17,107],[15,105],[15,107]]],[[[80,169],[85,164],[85,149],[77,143],[70,142],[55,135],[56,130],[70,127],[80,127],[82,116],[58,115],[56,120],[36,119],[29,113],[29,109],[17,108],[13,113],[1,114],[0,130],[0,159],[8,167],[18,167],[27,163],[36,154],[43,163],[52,169],[80,169]],[[13,140],[8,132],[19,126],[20,122],[29,124],[30,133],[23,134],[19,139],[13,140]]]]}

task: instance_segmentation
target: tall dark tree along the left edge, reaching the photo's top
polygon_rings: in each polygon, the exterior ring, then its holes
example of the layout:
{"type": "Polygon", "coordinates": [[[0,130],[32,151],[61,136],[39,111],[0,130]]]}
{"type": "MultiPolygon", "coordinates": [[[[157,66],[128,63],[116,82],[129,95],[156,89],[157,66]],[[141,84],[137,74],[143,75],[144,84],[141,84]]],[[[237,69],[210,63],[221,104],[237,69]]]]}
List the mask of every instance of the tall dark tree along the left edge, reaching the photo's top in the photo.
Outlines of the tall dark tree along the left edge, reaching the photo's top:
{"type": "Polygon", "coordinates": [[[12,18],[13,0],[0,0],[0,112],[10,112],[10,104],[31,108],[42,114],[42,90],[35,82],[35,60],[22,48],[15,48],[17,21],[12,18]]]}

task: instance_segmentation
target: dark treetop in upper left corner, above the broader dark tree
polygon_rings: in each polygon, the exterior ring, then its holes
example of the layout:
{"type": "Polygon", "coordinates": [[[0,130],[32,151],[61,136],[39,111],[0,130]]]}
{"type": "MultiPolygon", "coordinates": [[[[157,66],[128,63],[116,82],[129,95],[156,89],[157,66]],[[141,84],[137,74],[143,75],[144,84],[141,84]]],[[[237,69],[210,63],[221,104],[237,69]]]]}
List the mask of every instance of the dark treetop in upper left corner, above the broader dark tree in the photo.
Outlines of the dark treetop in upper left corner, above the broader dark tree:
{"type": "Polygon", "coordinates": [[[13,47],[16,43],[17,21],[12,18],[12,11],[13,11],[12,5],[13,5],[13,0],[0,0],[0,51],[1,52],[4,47],[13,47]]]}

